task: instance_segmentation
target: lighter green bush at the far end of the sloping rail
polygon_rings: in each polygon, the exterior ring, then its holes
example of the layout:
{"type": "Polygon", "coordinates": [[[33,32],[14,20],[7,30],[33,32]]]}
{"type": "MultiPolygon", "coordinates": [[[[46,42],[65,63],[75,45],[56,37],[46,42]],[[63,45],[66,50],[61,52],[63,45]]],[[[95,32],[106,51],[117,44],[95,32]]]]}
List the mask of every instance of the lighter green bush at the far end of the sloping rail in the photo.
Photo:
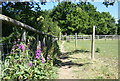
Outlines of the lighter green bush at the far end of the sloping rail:
{"type": "Polygon", "coordinates": [[[60,28],[58,27],[58,23],[52,21],[52,18],[49,17],[49,11],[41,11],[43,14],[40,16],[40,21],[38,21],[38,29],[50,33],[52,35],[59,35],[60,28]]]}

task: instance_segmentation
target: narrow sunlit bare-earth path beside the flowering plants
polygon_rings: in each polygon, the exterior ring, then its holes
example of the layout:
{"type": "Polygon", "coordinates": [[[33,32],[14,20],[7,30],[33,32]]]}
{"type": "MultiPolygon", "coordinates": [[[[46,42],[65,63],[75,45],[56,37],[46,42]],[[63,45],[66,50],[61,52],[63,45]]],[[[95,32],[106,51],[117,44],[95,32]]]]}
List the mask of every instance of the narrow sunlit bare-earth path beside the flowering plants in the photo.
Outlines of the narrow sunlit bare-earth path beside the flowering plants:
{"type": "MultiPolygon", "coordinates": [[[[64,42],[62,41],[62,44],[60,46],[60,50],[62,54],[65,54],[66,51],[64,50],[64,42]]],[[[65,64],[69,64],[70,60],[69,59],[61,59],[62,61],[62,66],[59,68],[58,75],[59,79],[74,79],[74,75],[72,73],[72,68],[70,66],[65,66],[65,64]]]]}

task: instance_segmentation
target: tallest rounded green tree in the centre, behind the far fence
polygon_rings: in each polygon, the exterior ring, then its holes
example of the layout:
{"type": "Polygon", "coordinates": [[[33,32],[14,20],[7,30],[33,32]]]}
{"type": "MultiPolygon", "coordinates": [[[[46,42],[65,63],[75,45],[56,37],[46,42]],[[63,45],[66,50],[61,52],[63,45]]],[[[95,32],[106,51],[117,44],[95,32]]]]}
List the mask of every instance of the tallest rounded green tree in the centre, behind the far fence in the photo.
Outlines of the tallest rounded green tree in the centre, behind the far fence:
{"type": "Polygon", "coordinates": [[[51,17],[58,22],[63,34],[84,33],[83,30],[88,24],[87,13],[72,2],[59,3],[52,10],[51,17]]]}

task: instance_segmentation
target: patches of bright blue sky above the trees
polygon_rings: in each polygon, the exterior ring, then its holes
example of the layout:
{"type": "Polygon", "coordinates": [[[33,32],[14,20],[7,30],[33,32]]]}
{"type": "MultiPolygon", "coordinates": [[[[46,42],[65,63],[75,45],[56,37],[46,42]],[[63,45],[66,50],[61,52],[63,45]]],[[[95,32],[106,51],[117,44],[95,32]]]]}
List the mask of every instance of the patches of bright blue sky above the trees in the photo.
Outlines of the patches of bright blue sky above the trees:
{"type": "MultiPolygon", "coordinates": [[[[58,2],[47,2],[46,5],[41,5],[42,10],[53,9],[57,6],[58,2]]],[[[108,6],[108,8],[102,4],[102,2],[91,2],[99,12],[110,12],[110,14],[116,19],[118,18],[118,2],[115,2],[114,6],[108,6]]],[[[116,19],[117,21],[118,19],[116,19]]]]}

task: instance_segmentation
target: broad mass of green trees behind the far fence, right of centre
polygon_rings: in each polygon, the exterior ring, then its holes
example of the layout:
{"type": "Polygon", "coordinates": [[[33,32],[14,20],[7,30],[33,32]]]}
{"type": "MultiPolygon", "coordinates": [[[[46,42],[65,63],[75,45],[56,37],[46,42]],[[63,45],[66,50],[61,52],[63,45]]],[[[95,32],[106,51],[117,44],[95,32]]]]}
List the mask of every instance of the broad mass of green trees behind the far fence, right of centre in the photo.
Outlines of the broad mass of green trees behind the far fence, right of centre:
{"type": "Polygon", "coordinates": [[[59,3],[52,11],[53,21],[57,21],[63,34],[92,34],[93,25],[97,26],[96,34],[116,34],[115,19],[108,12],[98,12],[89,2],[59,3]]]}

